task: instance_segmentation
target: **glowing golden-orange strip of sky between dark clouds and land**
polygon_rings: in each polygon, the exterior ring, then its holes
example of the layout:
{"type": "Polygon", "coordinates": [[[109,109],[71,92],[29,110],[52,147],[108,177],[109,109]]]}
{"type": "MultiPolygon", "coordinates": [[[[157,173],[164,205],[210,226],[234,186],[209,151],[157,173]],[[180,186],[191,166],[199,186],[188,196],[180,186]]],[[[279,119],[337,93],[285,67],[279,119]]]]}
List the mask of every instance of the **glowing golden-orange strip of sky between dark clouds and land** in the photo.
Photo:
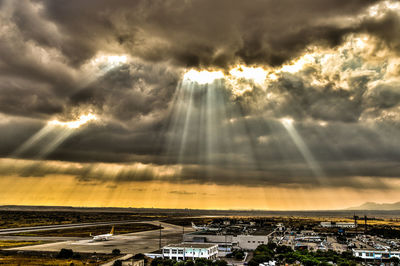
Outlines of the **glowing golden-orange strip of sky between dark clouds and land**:
{"type": "Polygon", "coordinates": [[[78,182],[71,175],[7,176],[0,179],[0,205],[135,207],[235,210],[340,210],[393,202],[396,190],[375,191],[177,184],[164,181],[78,182]]]}

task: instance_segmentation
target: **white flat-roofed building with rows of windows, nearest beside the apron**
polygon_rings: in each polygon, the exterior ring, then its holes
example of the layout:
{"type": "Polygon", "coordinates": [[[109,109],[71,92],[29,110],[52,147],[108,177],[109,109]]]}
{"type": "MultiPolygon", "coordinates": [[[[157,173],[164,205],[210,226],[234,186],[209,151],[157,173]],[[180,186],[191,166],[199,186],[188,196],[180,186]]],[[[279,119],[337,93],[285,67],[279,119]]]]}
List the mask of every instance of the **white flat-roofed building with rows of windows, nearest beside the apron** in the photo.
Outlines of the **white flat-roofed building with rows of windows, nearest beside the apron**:
{"type": "Polygon", "coordinates": [[[218,245],[206,243],[181,243],[170,244],[162,248],[163,258],[174,260],[187,259],[216,259],[218,255],[218,245]]]}

